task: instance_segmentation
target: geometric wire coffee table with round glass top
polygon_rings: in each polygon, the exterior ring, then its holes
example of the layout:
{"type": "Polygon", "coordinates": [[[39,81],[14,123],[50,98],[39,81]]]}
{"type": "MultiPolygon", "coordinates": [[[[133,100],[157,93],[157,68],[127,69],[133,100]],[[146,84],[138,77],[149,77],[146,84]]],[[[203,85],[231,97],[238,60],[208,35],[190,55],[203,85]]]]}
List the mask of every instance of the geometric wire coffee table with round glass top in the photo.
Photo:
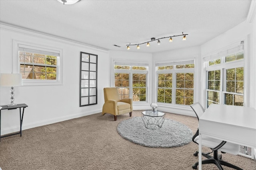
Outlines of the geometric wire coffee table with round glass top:
{"type": "Polygon", "coordinates": [[[160,129],[164,123],[165,113],[152,110],[142,111],[142,120],[147,129],[160,129]]]}

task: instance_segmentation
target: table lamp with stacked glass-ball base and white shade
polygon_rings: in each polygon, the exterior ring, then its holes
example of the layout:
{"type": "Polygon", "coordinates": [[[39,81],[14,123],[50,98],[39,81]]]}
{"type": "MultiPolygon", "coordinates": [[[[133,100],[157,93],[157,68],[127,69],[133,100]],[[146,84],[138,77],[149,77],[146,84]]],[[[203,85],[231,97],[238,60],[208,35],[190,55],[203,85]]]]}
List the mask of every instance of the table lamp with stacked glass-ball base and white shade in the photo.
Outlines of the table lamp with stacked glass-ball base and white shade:
{"type": "Polygon", "coordinates": [[[1,74],[1,80],[0,80],[1,86],[7,86],[11,87],[10,89],[10,104],[8,104],[8,107],[14,107],[17,106],[17,104],[14,104],[14,86],[22,86],[22,75],[21,74],[1,74]]]}

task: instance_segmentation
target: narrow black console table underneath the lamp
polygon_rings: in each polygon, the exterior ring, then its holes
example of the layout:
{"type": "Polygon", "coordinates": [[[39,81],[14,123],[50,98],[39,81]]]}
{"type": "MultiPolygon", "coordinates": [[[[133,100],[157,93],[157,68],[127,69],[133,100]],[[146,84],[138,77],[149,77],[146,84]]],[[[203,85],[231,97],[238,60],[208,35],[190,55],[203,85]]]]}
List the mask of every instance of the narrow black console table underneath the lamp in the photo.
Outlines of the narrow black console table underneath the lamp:
{"type": "Polygon", "coordinates": [[[28,107],[28,105],[26,105],[26,104],[17,104],[17,106],[12,106],[12,107],[8,107],[7,105],[1,106],[1,107],[2,107],[2,109],[0,109],[0,141],[1,141],[1,138],[3,138],[3,137],[8,137],[8,136],[12,136],[12,135],[18,135],[18,134],[20,134],[20,136],[21,136],[22,135],[21,134],[21,131],[22,131],[21,127],[22,127],[24,109],[26,107],[28,107]],[[17,108],[20,108],[20,131],[17,132],[17,133],[12,133],[12,134],[9,134],[9,135],[1,136],[1,111],[5,110],[5,109],[12,110],[12,109],[17,109],[17,108]],[[22,114],[21,114],[21,108],[23,108],[22,114]]]}

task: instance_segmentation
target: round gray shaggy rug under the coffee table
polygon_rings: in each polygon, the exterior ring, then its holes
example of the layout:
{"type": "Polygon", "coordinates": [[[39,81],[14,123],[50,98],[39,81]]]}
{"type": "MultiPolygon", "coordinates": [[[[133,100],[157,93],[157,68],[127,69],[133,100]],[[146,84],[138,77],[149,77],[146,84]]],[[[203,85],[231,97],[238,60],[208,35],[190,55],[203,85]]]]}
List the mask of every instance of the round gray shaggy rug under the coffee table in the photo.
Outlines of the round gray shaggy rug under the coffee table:
{"type": "Polygon", "coordinates": [[[121,121],[117,131],[124,139],[151,148],[180,147],[192,141],[192,131],[174,120],[165,119],[162,128],[150,130],[141,117],[121,121]]]}

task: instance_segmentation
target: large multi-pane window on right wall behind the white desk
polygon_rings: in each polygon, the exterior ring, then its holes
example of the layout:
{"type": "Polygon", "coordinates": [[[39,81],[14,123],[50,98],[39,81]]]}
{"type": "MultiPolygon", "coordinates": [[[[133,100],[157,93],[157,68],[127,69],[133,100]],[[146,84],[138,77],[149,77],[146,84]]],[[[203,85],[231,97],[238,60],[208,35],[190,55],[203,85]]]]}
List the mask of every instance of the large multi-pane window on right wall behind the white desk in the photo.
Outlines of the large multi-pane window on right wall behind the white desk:
{"type": "Polygon", "coordinates": [[[216,59],[204,59],[207,73],[206,107],[210,104],[244,105],[243,47],[241,44],[222,51],[216,59]]]}

